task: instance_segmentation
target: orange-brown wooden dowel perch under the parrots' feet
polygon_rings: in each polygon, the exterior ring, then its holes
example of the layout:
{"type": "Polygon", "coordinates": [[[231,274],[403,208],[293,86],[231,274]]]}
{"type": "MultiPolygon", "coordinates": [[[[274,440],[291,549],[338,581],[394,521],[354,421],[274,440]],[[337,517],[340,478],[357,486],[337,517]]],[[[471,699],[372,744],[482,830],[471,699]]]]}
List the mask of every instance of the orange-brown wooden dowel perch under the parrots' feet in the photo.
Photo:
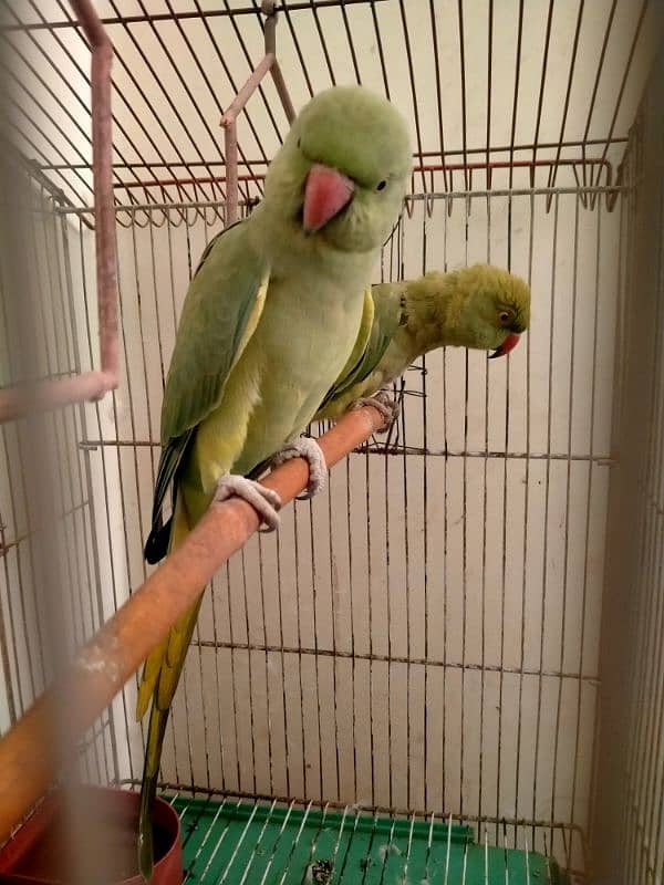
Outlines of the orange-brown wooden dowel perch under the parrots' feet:
{"type": "MultiPolygon", "coordinates": [[[[347,413],[318,441],[329,467],[378,430],[371,406],[347,413]]],[[[288,461],[263,485],[283,503],[307,486],[304,460],[288,461]]],[[[323,492],[324,493],[324,492],[323,492]]],[[[214,504],[186,541],[138,587],[0,740],[0,842],[46,791],[59,767],[58,748],[76,741],[122,690],[217,569],[257,531],[258,516],[238,498],[214,504]],[[54,739],[60,729],[59,740],[54,739]],[[64,733],[63,733],[64,732],[64,733]]]]}

